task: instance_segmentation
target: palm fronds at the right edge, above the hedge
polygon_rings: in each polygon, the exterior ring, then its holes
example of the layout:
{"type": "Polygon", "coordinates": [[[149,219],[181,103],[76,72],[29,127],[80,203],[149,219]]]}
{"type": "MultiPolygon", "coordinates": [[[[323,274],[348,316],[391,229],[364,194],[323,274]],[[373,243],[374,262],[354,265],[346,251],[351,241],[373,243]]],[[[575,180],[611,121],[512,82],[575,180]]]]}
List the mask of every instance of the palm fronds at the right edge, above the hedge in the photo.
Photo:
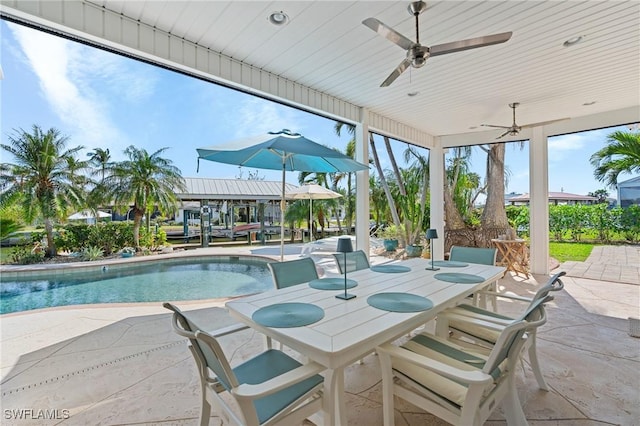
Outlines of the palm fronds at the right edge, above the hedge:
{"type": "Polygon", "coordinates": [[[611,187],[618,184],[620,173],[640,172],[640,132],[611,133],[607,146],[591,156],[591,165],[596,179],[611,187]]]}

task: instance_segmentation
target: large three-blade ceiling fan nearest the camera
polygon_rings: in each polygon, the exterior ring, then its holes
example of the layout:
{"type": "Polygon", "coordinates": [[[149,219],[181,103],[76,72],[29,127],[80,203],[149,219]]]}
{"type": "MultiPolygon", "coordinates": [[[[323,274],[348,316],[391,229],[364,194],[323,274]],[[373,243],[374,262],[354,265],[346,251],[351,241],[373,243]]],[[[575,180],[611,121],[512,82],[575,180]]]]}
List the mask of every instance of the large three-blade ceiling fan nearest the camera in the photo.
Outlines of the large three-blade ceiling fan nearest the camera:
{"type": "Polygon", "coordinates": [[[414,68],[422,67],[430,56],[444,55],[446,53],[461,52],[463,50],[475,49],[476,47],[490,46],[492,44],[504,43],[511,38],[511,32],[493,34],[484,37],[475,37],[466,40],[454,41],[451,43],[438,44],[427,47],[420,44],[420,31],[418,26],[418,15],[427,9],[427,4],[423,1],[412,2],[407,10],[416,19],[416,41],[415,43],[403,36],[396,30],[383,24],[376,18],[367,18],[362,23],[373,31],[380,34],[387,40],[397,44],[407,51],[407,57],[393,70],[393,72],[382,82],[380,87],[387,87],[400,76],[410,65],[414,68]]]}

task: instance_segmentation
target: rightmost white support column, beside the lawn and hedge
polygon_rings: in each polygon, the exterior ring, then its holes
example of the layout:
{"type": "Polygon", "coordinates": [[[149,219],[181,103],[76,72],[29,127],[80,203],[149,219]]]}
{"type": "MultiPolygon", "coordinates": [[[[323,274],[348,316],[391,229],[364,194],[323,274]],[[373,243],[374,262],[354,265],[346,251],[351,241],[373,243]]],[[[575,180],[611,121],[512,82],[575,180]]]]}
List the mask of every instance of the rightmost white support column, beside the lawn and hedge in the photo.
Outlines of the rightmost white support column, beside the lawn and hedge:
{"type": "Polygon", "coordinates": [[[529,142],[530,269],[549,274],[549,143],[544,127],[534,127],[529,142]]]}

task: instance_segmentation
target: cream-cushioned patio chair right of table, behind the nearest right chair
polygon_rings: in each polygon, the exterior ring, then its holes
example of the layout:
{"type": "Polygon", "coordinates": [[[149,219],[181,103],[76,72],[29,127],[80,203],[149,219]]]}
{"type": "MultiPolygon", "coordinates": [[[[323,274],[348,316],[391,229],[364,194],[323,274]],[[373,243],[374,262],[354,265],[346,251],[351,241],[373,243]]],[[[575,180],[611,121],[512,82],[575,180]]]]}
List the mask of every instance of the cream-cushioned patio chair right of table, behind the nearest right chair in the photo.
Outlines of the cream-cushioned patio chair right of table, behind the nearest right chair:
{"type": "MultiPolygon", "coordinates": [[[[553,300],[553,296],[551,296],[550,293],[564,288],[564,284],[562,283],[562,280],[560,280],[560,277],[565,274],[566,272],[562,271],[553,275],[531,298],[507,293],[496,293],[495,296],[520,302],[527,302],[529,303],[529,307],[527,309],[530,309],[531,306],[542,300],[541,307],[544,309],[545,303],[553,300]]],[[[450,339],[455,339],[467,347],[473,347],[474,350],[480,350],[486,353],[495,345],[500,335],[500,330],[510,324],[511,321],[513,321],[512,317],[500,315],[496,312],[478,308],[473,305],[460,304],[438,314],[438,318],[436,320],[436,335],[440,337],[449,336],[450,339]],[[485,327],[485,324],[487,323],[490,323],[491,327],[485,327]],[[461,340],[460,337],[463,337],[465,340],[461,340]],[[465,341],[468,343],[465,343],[465,341]]],[[[544,380],[544,376],[542,375],[542,370],[540,368],[540,362],[538,361],[536,335],[537,329],[531,330],[525,346],[529,354],[531,369],[536,377],[538,386],[540,389],[548,391],[549,388],[544,380]]]]}

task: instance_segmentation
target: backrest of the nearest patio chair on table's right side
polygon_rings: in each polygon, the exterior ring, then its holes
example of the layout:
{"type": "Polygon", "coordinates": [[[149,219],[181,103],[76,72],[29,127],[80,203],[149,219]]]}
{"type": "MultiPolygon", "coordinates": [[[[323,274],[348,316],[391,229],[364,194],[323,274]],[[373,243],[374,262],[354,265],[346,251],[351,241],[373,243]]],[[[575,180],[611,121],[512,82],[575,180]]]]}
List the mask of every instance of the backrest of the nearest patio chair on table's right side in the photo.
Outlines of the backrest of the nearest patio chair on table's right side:
{"type": "Polygon", "coordinates": [[[496,372],[499,372],[500,365],[507,358],[509,358],[511,364],[509,368],[515,366],[524,345],[524,333],[547,322],[547,315],[544,310],[546,301],[546,298],[533,301],[519,318],[516,318],[504,328],[483,367],[485,373],[497,377],[496,372]]]}

